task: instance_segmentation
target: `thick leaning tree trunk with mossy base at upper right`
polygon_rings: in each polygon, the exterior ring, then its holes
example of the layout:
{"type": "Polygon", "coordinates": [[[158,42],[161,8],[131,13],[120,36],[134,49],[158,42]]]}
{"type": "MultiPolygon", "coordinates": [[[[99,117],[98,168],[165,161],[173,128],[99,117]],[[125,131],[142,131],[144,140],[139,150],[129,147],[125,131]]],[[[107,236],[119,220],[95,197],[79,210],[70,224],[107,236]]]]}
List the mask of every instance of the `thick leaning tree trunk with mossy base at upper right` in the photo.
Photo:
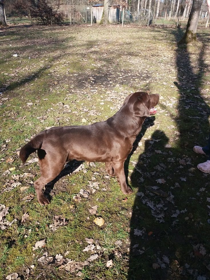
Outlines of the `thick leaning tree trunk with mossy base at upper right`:
{"type": "Polygon", "coordinates": [[[180,44],[187,44],[192,41],[196,41],[196,31],[198,26],[198,20],[199,20],[199,13],[201,10],[201,5],[203,3],[203,0],[193,0],[192,9],[189,15],[189,19],[187,22],[187,28],[185,31],[184,37],[179,41],[180,44]]]}

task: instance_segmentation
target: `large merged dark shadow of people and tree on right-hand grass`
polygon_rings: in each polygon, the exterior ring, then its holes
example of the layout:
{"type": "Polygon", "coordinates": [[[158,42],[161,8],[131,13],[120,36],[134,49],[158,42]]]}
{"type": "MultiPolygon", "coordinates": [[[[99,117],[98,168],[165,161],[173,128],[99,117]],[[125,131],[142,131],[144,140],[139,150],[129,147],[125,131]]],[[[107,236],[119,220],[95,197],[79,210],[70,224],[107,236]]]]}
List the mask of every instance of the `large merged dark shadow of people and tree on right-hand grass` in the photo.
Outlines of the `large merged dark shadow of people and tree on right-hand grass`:
{"type": "MultiPolygon", "coordinates": [[[[177,42],[182,36],[181,29],[174,32],[177,42]]],[[[206,145],[210,131],[209,106],[199,89],[205,48],[203,43],[195,73],[190,50],[177,47],[178,131],[172,143],[156,130],[131,175],[138,193],[130,221],[129,280],[209,279],[207,193],[203,192],[209,175],[196,169],[206,158],[192,151],[194,145],[206,145]]]]}

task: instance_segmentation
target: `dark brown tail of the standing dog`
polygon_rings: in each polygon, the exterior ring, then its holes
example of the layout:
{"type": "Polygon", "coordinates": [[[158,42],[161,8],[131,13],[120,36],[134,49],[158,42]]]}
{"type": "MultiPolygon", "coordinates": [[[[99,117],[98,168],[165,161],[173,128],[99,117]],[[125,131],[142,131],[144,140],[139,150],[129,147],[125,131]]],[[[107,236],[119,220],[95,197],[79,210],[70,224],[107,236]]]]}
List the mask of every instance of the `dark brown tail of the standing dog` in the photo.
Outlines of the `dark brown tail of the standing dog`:
{"type": "Polygon", "coordinates": [[[44,131],[40,132],[36,136],[34,136],[29,143],[27,143],[23,148],[20,150],[19,157],[23,164],[26,162],[29,155],[35,152],[37,149],[41,148],[42,142],[44,139],[44,131]]]}

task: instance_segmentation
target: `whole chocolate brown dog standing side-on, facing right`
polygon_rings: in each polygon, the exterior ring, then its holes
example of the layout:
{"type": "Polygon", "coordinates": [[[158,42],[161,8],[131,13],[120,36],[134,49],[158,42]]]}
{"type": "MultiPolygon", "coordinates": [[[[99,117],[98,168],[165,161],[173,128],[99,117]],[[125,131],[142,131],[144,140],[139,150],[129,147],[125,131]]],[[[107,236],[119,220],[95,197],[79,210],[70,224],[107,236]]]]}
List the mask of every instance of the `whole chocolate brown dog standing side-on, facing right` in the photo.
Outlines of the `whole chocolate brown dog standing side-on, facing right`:
{"type": "Polygon", "coordinates": [[[145,118],[149,117],[149,110],[158,101],[158,94],[131,93],[120,110],[106,121],[52,127],[31,139],[21,149],[20,158],[25,163],[28,156],[38,150],[41,177],[34,186],[39,204],[49,204],[43,187],[59,175],[66,161],[72,159],[105,162],[106,171],[110,176],[117,176],[122,192],[132,193],[126,184],[124,162],[145,118]]]}

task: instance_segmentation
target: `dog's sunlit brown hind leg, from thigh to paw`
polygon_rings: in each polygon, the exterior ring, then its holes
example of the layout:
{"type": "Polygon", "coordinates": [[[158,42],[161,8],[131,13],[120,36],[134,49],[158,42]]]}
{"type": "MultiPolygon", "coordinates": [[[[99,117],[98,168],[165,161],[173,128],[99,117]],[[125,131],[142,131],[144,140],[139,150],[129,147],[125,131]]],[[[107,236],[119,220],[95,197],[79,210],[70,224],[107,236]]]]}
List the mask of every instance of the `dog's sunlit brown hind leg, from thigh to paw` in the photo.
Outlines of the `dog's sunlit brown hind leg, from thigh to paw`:
{"type": "Polygon", "coordinates": [[[65,159],[46,155],[44,159],[39,159],[41,177],[34,182],[34,187],[37,194],[37,200],[40,205],[48,205],[49,200],[44,196],[44,186],[55,179],[64,167],[65,159]]]}

